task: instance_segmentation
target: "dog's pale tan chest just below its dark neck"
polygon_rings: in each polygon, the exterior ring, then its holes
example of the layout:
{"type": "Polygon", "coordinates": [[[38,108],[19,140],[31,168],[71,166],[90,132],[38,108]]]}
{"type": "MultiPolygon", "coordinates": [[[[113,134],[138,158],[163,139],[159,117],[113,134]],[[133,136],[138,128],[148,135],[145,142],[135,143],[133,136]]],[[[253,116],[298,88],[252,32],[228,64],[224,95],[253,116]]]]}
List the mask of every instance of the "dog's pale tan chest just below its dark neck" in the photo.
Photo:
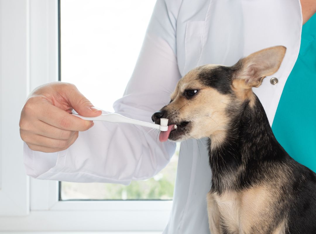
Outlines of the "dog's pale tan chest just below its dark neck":
{"type": "Polygon", "coordinates": [[[209,193],[208,210],[211,211],[209,215],[219,217],[218,224],[215,225],[224,227],[228,233],[251,233],[251,230],[257,228],[264,230],[266,223],[263,221],[272,221],[268,212],[272,200],[271,193],[267,191],[267,188],[226,192],[221,195],[209,193]]]}

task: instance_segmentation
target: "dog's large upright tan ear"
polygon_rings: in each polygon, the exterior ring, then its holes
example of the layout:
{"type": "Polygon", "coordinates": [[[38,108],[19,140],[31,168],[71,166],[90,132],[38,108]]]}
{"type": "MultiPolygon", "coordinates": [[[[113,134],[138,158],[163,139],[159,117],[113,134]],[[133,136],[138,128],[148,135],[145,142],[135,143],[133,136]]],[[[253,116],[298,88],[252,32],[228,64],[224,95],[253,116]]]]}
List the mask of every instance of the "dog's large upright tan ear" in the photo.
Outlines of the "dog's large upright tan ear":
{"type": "MultiPolygon", "coordinates": [[[[264,77],[276,73],[285,55],[284,46],[269,47],[257,51],[243,59],[235,66],[236,80],[244,80],[246,87],[259,87],[264,77]]],[[[234,82],[234,81],[233,81],[234,82]]]]}

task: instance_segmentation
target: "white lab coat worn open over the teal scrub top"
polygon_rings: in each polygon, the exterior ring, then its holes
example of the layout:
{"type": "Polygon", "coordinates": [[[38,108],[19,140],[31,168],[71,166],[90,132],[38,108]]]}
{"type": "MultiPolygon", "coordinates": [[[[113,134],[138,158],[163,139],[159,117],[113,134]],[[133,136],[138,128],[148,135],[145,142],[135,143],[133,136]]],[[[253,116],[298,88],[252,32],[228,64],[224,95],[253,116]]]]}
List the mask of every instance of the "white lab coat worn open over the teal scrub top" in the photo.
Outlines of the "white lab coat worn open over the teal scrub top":
{"type": "MultiPolygon", "coordinates": [[[[273,75],[278,84],[270,84],[271,77],[267,77],[254,89],[272,124],[298,56],[301,27],[299,0],[158,0],[131,80],[114,109],[150,122],[190,69],[207,63],[233,65],[252,52],[284,45],[286,55],[273,75]]],[[[39,179],[123,184],[152,177],[167,165],[175,144],[159,142],[158,132],[149,130],[95,122],[65,151],[41,153],[25,144],[27,174],[39,179]]],[[[210,233],[205,196],[211,171],[203,143],[205,139],[181,144],[165,234],[210,233]]]]}

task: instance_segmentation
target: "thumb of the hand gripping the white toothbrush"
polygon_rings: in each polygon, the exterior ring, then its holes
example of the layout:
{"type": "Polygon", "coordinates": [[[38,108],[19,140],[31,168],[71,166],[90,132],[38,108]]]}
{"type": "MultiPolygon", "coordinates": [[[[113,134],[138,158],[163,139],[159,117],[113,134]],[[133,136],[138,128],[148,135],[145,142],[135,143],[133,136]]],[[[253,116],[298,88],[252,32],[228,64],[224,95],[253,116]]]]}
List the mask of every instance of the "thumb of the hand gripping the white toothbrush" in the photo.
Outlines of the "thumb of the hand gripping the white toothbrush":
{"type": "Polygon", "coordinates": [[[96,117],[102,114],[76,87],[68,90],[68,102],[72,108],[84,117],[96,117]],[[70,91],[70,92],[69,92],[70,91]]]}

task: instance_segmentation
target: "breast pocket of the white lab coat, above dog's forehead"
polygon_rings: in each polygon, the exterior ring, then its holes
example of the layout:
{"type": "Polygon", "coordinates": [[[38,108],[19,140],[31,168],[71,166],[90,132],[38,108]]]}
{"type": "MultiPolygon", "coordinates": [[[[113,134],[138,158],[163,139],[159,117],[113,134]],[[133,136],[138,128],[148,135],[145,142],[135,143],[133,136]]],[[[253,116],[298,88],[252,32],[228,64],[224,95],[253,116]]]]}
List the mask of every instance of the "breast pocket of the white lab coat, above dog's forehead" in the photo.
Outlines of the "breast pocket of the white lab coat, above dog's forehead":
{"type": "Polygon", "coordinates": [[[197,67],[203,47],[205,21],[188,21],[185,28],[185,66],[182,74],[197,67]]]}

